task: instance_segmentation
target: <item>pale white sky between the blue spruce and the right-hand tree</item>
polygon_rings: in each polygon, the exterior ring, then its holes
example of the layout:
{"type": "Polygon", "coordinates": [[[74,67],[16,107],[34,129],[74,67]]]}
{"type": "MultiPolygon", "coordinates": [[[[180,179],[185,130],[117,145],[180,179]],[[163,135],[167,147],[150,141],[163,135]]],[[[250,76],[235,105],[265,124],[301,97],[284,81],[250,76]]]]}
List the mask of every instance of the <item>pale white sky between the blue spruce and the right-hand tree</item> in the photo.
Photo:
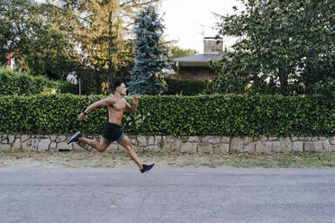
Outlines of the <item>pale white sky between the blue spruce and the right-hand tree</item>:
{"type": "MultiPolygon", "coordinates": [[[[166,27],[165,39],[178,40],[176,45],[181,49],[203,53],[204,37],[214,37],[218,33],[214,27],[219,19],[213,13],[234,13],[231,9],[234,5],[241,8],[237,0],[163,0],[159,13],[166,27]]],[[[229,48],[235,40],[224,37],[223,46],[229,48]]]]}

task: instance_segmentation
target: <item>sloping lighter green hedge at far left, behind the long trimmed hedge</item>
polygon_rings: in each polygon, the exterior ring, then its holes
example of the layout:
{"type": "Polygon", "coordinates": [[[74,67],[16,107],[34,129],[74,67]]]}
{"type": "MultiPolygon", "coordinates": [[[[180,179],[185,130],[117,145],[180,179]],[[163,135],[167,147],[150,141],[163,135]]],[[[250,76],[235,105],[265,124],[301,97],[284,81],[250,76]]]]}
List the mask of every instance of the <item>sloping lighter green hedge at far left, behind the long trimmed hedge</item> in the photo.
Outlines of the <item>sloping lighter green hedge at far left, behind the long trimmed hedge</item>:
{"type": "Polygon", "coordinates": [[[72,86],[67,82],[50,81],[43,76],[31,76],[25,72],[0,67],[0,94],[32,95],[41,93],[69,93],[72,86]]]}

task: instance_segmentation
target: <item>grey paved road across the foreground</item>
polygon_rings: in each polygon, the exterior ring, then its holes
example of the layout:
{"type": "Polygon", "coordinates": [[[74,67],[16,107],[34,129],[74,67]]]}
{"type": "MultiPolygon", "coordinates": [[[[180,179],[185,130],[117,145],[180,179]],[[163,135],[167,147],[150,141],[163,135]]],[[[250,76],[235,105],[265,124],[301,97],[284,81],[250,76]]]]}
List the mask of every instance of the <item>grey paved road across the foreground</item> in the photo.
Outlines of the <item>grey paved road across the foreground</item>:
{"type": "Polygon", "coordinates": [[[335,222],[335,170],[0,168],[0,222],[335,222]]]}

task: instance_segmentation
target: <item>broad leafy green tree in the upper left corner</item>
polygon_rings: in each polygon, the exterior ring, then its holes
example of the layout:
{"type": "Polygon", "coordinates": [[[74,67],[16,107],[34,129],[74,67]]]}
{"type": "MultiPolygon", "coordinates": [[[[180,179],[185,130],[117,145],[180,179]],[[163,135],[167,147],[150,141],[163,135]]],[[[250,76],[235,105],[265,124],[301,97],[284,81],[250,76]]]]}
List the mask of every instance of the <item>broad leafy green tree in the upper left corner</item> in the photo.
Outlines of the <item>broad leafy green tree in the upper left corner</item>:
{"type": "Polygon", "coordinates": [[[64,78],[78,62],[67,20],[66,12],[59,13],[50,4],[4,0],[0,5],[1,63],[13,57],[33,75],[64,78]]]}

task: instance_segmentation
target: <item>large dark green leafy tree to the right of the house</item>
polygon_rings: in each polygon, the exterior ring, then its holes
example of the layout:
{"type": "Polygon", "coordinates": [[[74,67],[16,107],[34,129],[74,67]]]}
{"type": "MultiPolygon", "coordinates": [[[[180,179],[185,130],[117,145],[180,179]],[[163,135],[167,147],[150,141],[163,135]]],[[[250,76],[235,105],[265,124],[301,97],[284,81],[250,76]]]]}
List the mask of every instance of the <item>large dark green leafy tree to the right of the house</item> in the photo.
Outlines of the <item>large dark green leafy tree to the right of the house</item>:
{"type": "Polygon", "coordinates": [[[242,3],[241,13],[218,15],[219,34],[240,40],[212,62],[216,77],[210,91],[333,95],[334,2],[242,3]]]}

